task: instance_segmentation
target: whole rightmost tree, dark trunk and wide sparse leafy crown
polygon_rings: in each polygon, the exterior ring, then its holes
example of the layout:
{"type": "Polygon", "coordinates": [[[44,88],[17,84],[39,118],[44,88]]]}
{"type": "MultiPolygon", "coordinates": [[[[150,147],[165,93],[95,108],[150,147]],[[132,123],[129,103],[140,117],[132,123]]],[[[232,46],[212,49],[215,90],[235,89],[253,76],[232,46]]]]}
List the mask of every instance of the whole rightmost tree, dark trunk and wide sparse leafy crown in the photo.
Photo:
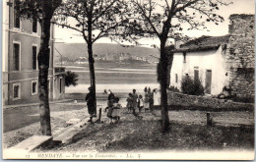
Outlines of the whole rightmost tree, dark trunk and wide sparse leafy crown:
{"type": "Polygon", "coordinates": [[[130,0],[132,9],[123,16],[129,19],[124,29],[125,37],[136,41],[142,37],[160,39],[160,89],[161,89],[161,132],[169,131],[167,109],[167,67],[168,59],[165,45],[168,39],[184,39],[183,29],[205,29],[206,22],[219,23],[224,18],[216,11],[220,5],[227,5],[222,0],[130,0]]]}

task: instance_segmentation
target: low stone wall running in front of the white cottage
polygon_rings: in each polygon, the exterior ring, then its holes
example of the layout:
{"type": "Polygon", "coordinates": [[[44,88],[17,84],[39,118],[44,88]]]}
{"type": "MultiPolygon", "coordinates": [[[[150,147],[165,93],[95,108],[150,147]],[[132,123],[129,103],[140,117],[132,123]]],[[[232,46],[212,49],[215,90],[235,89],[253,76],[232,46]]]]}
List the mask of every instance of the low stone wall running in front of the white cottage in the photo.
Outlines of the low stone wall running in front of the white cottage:
{"type": "Polygon", "coordinates": [[[191,109],[207,110],[254,110],[253,103],[233,102],[209,96],[187,95],[168,90],[168,105],[191,107],[191,109]]]}

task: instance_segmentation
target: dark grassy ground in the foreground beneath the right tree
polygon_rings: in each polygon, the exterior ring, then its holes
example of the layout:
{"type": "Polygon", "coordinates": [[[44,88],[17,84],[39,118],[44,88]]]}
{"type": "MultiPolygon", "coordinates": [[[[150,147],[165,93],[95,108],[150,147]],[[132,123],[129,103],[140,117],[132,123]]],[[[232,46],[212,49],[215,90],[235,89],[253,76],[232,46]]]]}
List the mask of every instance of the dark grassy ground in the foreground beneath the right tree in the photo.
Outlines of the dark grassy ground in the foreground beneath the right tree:
{"type": "MultiPolygon", "coordinates": [[[[236,114],[238,115],[238,114],[236,114]]],[[[143,113],[142,121],[124,114],[117,124],[90,125],[72,143],[53,148],[58,151],[136,152],[161,150],[253,149],[254,125],[214,125],[172,118],[170,132],[160,133],[160,121],[143,113]],[[190,121],[190,122],[189,122],[190,121]]],[[[231,119],[230,119],[231,120],[231,119]]]]}

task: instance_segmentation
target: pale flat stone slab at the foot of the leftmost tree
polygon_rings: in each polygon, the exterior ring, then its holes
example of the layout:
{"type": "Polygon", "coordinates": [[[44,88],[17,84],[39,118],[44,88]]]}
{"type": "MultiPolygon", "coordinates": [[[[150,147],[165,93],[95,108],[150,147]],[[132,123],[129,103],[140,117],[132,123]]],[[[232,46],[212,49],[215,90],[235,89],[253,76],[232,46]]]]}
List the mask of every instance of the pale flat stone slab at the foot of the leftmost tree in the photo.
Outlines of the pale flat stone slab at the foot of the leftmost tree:
{"type": "Polygon", "coordinates": [[[51,140],[52,136],[49,135],[32,135],[31,137],[21,141],[17,145],[9,148],[9,150],[25,150],[30,152],[51,140]]]}

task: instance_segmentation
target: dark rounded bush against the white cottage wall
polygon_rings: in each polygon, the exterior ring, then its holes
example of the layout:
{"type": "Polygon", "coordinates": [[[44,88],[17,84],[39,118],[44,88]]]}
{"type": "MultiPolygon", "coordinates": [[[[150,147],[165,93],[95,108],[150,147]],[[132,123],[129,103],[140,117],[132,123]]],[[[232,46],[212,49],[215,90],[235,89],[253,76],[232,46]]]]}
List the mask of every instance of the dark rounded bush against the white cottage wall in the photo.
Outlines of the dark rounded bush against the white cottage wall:
{"type": "Polygon", "coordinates": [[[200,80],[193,81],[190,77],[183,77],[181,80],[182,93],[190,95],[204,95],[205,90],[200,80]]]}

